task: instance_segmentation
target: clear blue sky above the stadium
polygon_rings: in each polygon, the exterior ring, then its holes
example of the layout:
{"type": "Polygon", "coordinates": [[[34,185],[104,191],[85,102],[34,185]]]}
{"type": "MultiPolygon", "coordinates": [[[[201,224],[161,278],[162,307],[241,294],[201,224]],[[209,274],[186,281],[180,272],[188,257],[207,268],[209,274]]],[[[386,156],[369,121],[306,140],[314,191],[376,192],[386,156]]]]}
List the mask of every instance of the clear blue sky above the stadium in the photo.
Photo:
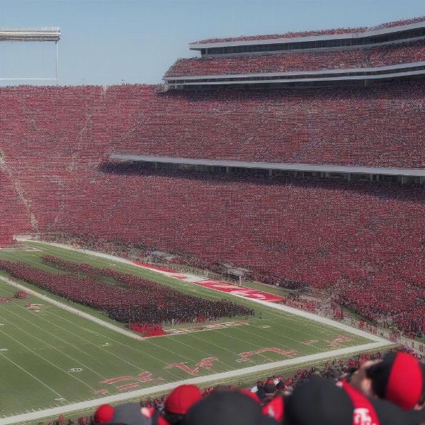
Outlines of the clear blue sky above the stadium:
{"type": "MultiPolygon", "coordinates": [[[[0,27],[59,26],[60,84],[161,82],[188,42],[373,26],[425,15],[424,0],[0,0],[0,27]]],[[[0,77],[54,75],[53,43],[0,42],[0,77]]],[[[0,81],[0,85],[16,81],[0,81]]]]}

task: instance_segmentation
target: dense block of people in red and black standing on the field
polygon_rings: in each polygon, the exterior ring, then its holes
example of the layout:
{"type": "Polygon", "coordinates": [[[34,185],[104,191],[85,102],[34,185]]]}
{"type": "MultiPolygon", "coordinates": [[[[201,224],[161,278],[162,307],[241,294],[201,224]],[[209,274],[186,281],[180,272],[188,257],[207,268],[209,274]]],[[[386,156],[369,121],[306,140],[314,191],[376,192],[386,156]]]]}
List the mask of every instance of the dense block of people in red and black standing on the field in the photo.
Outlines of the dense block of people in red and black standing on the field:
{"type": "MultiPolygon", "coordinates": [[[[84,276],[50,273],[25,263],[11,261],[0,261],[0,270],[56,295],[94,307],[108,314],[111,319],[126,324],[194,322],[199,317],[217,320],[220,317],[254,314],[248,307],[231,301],[211,301],[186,295],[151,280],[108,268],[96,269],[87,264],[78,268],[77,263],[55,257],[45,261],[61,268],[79,271],[84,276]],[[106,277],[115,280],[118,285],[103,282],[106,277]]],[[[145,332],[148,332],[148,336],[157,334],[154,327],[142,329],[142,333],[145,332]]]]}

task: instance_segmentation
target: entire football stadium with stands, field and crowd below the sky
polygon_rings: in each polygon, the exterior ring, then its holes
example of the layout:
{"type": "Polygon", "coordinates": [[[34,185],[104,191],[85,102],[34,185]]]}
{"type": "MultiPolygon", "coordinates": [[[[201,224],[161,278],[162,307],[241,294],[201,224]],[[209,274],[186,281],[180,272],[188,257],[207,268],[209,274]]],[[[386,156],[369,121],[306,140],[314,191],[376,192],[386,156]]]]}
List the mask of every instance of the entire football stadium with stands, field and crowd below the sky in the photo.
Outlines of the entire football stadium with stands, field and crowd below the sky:
{"type": "Polygon", "coordinates": [[[0,88],[0,425],[425,423],[425,18],[188,49],[0,88]]]}

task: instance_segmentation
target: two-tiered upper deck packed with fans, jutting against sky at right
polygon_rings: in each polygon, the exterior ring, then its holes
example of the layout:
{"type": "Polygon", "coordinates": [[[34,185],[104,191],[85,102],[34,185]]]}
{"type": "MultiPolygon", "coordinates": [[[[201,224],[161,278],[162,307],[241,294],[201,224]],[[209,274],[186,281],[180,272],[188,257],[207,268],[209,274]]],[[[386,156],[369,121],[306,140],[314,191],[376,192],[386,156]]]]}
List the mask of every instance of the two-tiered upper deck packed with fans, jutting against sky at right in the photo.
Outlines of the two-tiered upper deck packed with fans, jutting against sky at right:
{"type": "Polygon", "coordinates": [[[202,40],[178,60],[169,89],[361,86],[422,77],[425,19],[388,26],[202,40]]]}

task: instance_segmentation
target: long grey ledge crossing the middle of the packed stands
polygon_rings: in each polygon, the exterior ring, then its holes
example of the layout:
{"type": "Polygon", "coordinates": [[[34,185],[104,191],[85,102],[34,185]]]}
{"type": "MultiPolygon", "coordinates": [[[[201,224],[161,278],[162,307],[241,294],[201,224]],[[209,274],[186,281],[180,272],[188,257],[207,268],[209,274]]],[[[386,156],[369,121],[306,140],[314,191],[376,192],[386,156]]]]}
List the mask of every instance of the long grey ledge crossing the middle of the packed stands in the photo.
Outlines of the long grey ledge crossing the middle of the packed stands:
{"type": "Polygon", "coordinates": [[[230,168],[266,169],[279,171],[310,171],[338,174],[376,174],[382,176],[425,177],[424,169],[394,169],[368,166],[341,166],[326,164],[286,164],[277,162],[245,162],[227,159],[193,159],[174,157],[154,157],[146,155],[111,154],[110,159],[130,162],[150,162],[152,164],[179,164],[192,166],[220,166],[230,168]]]}

